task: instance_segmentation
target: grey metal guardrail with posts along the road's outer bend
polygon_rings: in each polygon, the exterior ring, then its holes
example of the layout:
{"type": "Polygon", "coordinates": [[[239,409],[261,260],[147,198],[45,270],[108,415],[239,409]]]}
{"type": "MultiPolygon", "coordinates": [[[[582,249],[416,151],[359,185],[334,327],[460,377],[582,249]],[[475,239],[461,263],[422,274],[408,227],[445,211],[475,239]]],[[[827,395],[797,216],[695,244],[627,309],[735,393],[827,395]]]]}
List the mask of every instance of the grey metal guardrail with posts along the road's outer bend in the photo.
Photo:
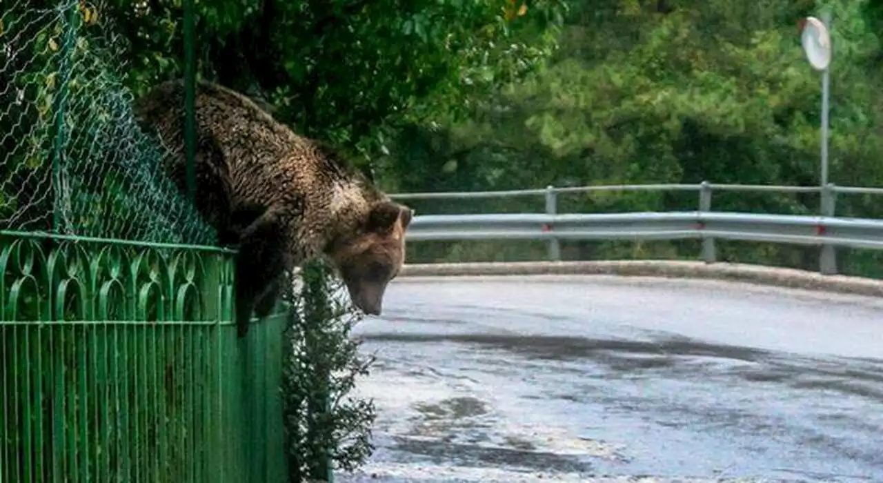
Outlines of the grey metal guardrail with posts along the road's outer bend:
{"type": "Polygon", "coordinates": [[[547,240],[550,260],[561,260],[559,240],[702,239],[702,258],[716,260],[716,238],[796,245],[819,245],[819,272],[836,273],[834,246],[883,249],[883,220],[834,216],[837,193],[883,195],[883,188],[776,185],[598,185],[501,192],[393,194],[396,200],[546,197],[546,213],[416,215],[406,238],[428,240],[547,240]],[[758,215],[712,212],[712,192],[818,192],[820,215],[758,215]],[[698,211],[616,214],[557,214],[557,195],[599,191],[697,191],[698,211]]]}

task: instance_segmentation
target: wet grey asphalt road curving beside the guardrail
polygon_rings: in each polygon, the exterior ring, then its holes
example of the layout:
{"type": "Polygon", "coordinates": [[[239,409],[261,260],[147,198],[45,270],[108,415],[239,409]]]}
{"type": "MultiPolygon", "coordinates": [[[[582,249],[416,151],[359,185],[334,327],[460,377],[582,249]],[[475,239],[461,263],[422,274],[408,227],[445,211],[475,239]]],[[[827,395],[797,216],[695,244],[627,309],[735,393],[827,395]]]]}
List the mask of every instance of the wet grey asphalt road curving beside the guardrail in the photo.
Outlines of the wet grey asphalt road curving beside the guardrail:
{"type": "Polygon", "coordinates": [[[883,299],[746,283],[402,278],[354,333],[356,481],[883,481],[883,299]]]}

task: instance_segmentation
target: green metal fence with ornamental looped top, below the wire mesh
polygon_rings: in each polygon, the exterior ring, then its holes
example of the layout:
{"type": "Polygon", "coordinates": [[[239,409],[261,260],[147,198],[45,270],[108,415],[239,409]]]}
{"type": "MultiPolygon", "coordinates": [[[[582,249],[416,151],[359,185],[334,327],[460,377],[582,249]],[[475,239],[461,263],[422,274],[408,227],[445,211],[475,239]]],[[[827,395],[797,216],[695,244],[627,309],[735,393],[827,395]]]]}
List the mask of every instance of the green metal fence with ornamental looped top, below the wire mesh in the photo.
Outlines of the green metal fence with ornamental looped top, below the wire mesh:
{"type": "Polygon", "coordinates": [[[0,234],[0,481],[284,481],[277,313],[232,253],[0,234]]]}

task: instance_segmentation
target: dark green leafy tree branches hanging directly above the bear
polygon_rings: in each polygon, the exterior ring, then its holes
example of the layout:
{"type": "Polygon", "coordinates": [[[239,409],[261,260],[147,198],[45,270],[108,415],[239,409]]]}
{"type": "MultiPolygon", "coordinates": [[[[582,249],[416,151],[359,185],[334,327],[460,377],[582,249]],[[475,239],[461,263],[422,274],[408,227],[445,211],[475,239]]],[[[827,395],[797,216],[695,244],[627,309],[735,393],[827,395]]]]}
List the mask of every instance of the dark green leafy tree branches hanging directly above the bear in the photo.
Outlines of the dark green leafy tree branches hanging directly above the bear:
{"type": "MultiPolygon", "coordinates": [[[[180,75],[180,0],[107,0],[137,67],[180,75]]],[[[456,116],[546,56],[563,0],[219,0],[197,3],[200,72],[263,99],[298,132],[386,152],[400,123],[456,116]],[[530,42],[521,42],[524,33],[530,42]]]]}

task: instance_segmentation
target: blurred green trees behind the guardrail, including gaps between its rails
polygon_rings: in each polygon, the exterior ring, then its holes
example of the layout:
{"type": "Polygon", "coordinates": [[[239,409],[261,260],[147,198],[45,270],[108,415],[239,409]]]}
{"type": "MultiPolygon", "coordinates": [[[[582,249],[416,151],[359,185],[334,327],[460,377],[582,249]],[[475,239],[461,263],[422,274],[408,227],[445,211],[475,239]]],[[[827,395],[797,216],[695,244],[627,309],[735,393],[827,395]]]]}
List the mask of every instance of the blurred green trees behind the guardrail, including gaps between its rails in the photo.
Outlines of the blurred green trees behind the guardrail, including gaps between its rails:
{"type": "MultiPolygon", "coordinates": [[[[883,9],[868,0],[826,4],[834,13],[829,181],[883,185],[883,91],[879,67],[872,64],[880,32],[873,22],[883,9]]],[[[469,119],[441,128],[417,124],[404,132],[395,160],[401,188],[702,180],[818,185],[821,76],[804,57],[799,23],[818,16],[822,6],[812,0],[572,3],[560,49],[542,69],[488,96],[469,119]]],[[[469,209],[462,204],[433,200],[418,203],[418,210],[469,209]]],[[[595,212],[695,209],[697,196],[597,193],[567,197],[561,206],[595,212]]],[[[721,193],[713,206],[807,214],[818,213],[819,197],[721,193]]],[[[841,197],[838,213],[879,216],[880,206],[841,197]]],[[[484,202],[471,208],[504,209],[484,202]]],[[[517,209],[536,211],[541,204],[517,209]]],[[[694,248],[688,247],[690,256],[698,253],[694,248]]],[[[740,256],[814,268],[814,250],[773,252],[780,254],[764,259],[766,253],[751,247],[740,256]]]]}

